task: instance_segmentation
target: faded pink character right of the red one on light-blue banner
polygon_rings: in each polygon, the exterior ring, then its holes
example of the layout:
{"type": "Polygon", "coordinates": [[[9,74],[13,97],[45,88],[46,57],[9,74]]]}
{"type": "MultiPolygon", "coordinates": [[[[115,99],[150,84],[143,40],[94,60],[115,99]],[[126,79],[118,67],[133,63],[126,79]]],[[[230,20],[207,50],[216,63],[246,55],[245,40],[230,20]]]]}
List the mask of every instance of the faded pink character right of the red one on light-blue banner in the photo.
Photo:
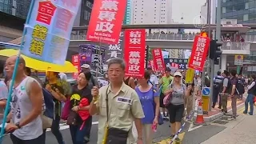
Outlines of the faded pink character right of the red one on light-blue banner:
{"type": "Polygon", "coordinates": [[[67,30],[70,25],[70,20],[73,14],[69,10],[60,9],[58,10],[56,26],[59,29],[67,30]]]}

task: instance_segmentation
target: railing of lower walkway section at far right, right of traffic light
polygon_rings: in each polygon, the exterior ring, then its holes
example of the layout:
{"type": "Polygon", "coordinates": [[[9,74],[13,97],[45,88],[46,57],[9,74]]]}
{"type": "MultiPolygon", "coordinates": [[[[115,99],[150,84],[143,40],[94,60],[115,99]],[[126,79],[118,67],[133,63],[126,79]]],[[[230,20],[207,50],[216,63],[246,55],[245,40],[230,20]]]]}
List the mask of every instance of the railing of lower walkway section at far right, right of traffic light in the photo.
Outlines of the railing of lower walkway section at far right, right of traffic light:
{"type": "Polygon", "coordinates": [[[223,42],[222,50],[250,50],[249,42],[223,42]]]}

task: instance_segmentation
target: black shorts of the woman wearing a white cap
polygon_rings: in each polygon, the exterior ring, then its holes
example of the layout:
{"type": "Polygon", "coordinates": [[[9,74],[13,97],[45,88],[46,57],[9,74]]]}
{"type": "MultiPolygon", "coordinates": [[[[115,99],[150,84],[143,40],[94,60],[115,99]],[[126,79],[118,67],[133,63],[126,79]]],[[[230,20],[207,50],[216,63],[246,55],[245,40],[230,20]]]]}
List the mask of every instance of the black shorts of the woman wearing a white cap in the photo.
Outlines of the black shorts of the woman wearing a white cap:
{"type": "Polygon", "coordinates": [[[184,104],[182,105],[173,105],[167,107],[169,112],[170,123],[174,122],[182,122],[183,114],[184,114],[184,104]]]}

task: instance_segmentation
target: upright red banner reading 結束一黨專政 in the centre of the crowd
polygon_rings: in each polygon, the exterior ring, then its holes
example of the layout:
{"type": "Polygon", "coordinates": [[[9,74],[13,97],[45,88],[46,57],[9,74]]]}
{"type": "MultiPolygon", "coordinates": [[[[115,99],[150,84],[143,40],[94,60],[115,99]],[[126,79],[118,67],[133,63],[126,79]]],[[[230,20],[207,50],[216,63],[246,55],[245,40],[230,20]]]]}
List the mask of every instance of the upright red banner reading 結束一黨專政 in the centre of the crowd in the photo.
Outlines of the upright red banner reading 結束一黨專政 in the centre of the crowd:
{"type": "Polygon", "coordinates": [[[125,30],[126,76],[144,77],[145,66],[145,30],[125,30]]]}

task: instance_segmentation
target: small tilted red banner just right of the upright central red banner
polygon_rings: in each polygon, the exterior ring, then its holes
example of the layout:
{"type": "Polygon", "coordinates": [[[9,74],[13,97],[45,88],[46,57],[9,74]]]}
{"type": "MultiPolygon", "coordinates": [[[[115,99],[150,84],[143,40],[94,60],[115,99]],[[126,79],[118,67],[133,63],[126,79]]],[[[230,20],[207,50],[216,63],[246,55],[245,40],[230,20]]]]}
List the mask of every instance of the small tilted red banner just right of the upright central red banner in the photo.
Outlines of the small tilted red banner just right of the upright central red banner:
{"type": "Polygon", "coordinates": [[[162,50],[154,49],[152,54],[154,58],[155,70],[157,71],[166,70],[165,62],[163,61],[163,58],[162,58],[162,50]]]}

